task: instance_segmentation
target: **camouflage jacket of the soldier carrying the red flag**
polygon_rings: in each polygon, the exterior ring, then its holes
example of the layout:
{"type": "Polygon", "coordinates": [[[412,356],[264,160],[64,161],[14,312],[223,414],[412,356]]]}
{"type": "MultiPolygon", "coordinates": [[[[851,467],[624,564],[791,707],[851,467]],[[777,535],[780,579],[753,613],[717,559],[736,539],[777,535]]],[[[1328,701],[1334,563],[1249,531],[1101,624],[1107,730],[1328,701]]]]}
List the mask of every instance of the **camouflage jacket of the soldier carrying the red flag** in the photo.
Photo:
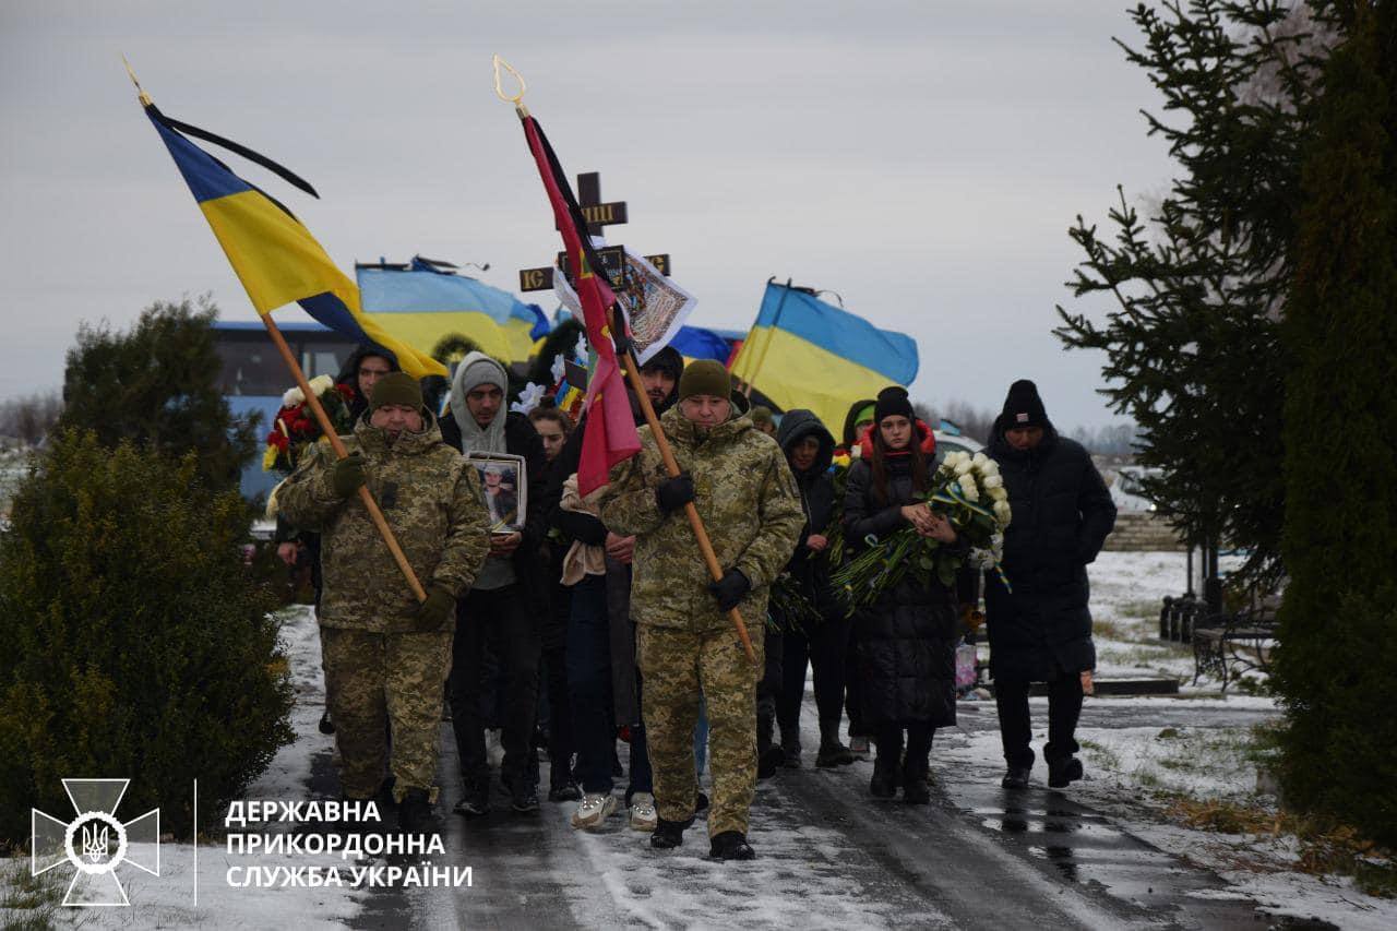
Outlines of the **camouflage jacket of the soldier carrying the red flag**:
{"type": "MultiPolygon", "coordinates": [[[[752,582],[739,605],[747,630],[760,636],[767,591],[795,549],[805,513],[800,493],[775,440],[746,414],[698,438],[673,407],[661,418],[679,468],[693,475],[694,506],[724,569],[752,582]]],[[[731,626],[708,591],[708,569],[683,510],[665,514],[655,488],[668,478],[648,426],[640,453],[619,463],[601,496],[601,519],[620,535],[636,535],[630,616],[636,623],[711,633],[731,626]]]]}

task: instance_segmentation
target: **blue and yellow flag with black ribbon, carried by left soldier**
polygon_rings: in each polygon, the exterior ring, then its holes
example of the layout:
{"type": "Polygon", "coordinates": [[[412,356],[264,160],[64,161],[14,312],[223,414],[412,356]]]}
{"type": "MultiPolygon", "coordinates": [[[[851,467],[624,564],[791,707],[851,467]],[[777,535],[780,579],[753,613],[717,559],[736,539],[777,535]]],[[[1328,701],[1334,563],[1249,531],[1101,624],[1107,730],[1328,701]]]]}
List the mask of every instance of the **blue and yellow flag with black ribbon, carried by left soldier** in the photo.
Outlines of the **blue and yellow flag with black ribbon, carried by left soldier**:
{"type": "Polygon", "coordinates": [[[145,92],[141,92],[141,103],[257,313],[267,316],[277,308],[295,302],[335,333],[391,352],[402,370],[414,377],[447,375],[440,362],[395,338],[363,315],[359,288],[335,267],[310,231],[289,210],[189,141],[186,133],[251,158],[314,194],[309,185],[236,143],[172,120],[155,108],[145,92]]]}

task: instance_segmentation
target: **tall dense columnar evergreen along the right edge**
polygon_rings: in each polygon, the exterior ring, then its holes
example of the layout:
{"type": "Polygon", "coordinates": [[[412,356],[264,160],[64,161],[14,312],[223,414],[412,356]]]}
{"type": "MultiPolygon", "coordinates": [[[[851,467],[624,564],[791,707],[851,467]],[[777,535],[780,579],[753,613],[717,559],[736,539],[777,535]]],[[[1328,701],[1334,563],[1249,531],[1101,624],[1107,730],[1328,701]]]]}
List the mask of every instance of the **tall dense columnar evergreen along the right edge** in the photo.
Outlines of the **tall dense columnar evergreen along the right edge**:
{"type": "Polygon", "coordinates": [[[1288,804],[1397,846],[1397,10],[1347,14],[1282,324],[1289,586],[1274,681],[1288,804]]]}

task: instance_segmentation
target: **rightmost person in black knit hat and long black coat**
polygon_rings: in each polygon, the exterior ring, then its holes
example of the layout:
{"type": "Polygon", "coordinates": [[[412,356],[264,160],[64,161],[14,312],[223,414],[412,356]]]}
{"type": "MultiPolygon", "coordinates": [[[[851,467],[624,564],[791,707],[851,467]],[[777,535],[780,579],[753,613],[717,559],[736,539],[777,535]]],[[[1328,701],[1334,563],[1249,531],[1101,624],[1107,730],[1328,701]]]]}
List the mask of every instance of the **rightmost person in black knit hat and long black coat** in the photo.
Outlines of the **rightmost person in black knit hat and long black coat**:
{"type": "Polygon", "coordinates": [[[1048,784],[1081,779],[1073,732],[1081,714],[1083,674],[1097,665],[1087,602],[1087,565],[1116,521],[1101,472],[1087,450],[1053,429],[1038,387],[1014,382],[995,421],[989,456],[999,463],[1011,519],[1003,570],[986,573],[995,702],[1004,744],[1004,788],[1027,788],[1034,765],[1028,745],[1030,682],[1048,684],[1048,784]]]}

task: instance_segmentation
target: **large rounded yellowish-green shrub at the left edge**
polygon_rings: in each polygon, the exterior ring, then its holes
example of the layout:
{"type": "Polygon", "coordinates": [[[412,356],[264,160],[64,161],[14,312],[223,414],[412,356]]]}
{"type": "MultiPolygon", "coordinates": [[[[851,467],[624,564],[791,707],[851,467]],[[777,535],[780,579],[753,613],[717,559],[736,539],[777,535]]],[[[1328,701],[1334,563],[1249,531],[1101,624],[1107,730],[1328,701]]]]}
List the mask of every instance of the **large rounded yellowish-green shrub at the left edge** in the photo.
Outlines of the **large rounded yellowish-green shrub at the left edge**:
{"type": "Polygon", "coordinates": [[[0,844],[70,814],[66,777],[130,779],[117,815],[187,836],[196,779],[207,825],[292,738],[247,507],[193,454],[53,440],[0,534],[0,844]]]}

